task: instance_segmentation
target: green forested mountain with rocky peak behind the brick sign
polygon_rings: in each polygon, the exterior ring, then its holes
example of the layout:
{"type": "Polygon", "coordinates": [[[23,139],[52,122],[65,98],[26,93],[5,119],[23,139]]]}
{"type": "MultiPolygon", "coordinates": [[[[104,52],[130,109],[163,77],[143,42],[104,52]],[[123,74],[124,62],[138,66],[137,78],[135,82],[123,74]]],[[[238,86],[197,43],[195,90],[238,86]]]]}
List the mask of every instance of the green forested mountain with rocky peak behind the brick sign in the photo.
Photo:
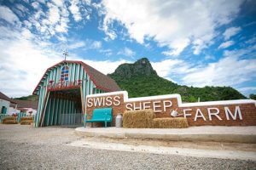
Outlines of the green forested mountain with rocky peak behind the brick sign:
{"type": "Polygon", "coordinates": [[[108,74],[118,83],[122,90],[129,93],[129,97],[143,97],[161,94],[181,94],[183,101],[246,99],[244,95],[231,87],[194,88],[178,85],[165,78],[159,77],[147,58],[138,59],[133,64],[122,64],[108,74]]]}

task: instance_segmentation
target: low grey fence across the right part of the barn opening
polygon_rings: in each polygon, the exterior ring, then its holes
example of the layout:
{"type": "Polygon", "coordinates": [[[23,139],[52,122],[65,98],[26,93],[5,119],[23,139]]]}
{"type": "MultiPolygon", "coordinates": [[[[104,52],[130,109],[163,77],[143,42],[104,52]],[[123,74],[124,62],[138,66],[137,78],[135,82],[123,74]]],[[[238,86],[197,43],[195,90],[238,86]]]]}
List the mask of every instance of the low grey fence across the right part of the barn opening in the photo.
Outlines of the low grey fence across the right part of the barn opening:
{"type": "Polygon", "coordinates": [[[81,124],[83,120],[82,113],[61,114],[61,125],[81,124]]]}

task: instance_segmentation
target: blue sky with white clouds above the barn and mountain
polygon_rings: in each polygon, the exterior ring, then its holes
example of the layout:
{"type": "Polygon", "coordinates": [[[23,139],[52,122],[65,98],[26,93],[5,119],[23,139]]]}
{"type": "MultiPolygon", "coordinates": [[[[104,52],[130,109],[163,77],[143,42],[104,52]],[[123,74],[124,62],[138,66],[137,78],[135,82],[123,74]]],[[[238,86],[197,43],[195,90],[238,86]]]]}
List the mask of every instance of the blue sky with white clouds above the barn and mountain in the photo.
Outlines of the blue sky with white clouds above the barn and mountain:
{"type": "Polygon", "coordinates": [[[147,57],[160,77],[256,94],[256,1],[0,0],[0,91],[32,94],[64,59],[112,73],[147,57]]]}

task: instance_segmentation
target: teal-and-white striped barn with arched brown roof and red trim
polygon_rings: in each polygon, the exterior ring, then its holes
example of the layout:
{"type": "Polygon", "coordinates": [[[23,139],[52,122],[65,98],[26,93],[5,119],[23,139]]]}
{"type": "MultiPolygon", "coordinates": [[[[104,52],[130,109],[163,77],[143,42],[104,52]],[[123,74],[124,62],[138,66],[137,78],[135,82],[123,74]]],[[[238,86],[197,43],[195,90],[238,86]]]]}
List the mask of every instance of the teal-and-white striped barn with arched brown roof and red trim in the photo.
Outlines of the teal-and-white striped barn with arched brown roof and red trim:
{"type": "Polygon", "coordinates": [[[39,96],[35,127],[79,124],[87,95],[119,90],[113,79],[90,65],[63,60],[44,72],[33,91],[39,96]]]}

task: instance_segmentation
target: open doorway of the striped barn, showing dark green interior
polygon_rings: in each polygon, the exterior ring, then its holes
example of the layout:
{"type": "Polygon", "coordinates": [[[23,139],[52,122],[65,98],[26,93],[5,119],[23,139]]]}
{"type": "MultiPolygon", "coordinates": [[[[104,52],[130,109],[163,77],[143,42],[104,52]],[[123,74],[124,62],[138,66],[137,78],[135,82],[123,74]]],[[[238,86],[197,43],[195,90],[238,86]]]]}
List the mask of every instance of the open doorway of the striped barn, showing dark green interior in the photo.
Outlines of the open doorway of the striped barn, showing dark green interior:
{"type": "Polygon", "coordinates": [[[80,88],[50,91],[42,118],[43,127],[82,125],[80,88]]]}

